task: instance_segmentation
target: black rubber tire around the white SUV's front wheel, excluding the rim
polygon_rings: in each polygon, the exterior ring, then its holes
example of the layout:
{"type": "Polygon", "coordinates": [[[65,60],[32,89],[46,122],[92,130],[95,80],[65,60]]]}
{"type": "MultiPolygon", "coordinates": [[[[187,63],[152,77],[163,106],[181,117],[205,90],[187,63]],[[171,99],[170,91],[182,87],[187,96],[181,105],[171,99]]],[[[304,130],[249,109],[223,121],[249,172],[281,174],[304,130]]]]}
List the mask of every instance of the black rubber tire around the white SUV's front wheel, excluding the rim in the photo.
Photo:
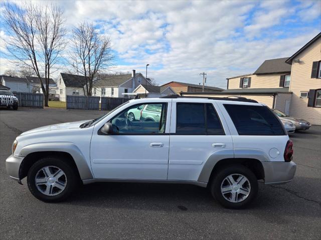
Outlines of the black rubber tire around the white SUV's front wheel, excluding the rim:
{"type": "Polygon", "coordinates": [[[45,202],[58,202],[66,199],[77,187],[78,176],[75,172],[75,169],[70,166],[70,164],[65,161],[57,158],[55,156],[44,157],[36,161],[29,169],[27,176],[27,183],[31,193],[38,199],[45,202]],[[41,168],[46,166],[59,167],[65,173],[66,185],[65,188],[57,195],[46,195],[41,192],[36,186],[36,174],[41,168]]]}

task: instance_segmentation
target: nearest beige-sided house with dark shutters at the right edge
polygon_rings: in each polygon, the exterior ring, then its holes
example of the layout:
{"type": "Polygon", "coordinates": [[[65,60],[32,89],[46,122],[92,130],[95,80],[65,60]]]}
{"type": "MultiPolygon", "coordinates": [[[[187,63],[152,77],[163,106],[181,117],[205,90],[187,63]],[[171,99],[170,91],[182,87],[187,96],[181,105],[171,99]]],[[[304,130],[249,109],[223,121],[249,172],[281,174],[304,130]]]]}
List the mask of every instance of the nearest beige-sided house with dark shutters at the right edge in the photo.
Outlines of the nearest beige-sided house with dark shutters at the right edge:
{"type": "Polygon", "coordinates": [[[289,57],[290,115],[321,125],[321,33],[289,57]]]}

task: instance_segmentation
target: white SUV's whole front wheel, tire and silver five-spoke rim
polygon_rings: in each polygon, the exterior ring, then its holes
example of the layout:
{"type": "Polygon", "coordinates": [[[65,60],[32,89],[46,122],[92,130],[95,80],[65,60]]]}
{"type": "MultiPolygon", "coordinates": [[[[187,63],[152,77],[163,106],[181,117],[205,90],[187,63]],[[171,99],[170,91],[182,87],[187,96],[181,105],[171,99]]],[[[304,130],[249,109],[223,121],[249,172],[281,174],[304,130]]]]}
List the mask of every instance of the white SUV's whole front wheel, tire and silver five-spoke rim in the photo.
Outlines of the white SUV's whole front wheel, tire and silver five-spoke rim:
{"type": "Polygon", "coordinates": [[[36,161],[28,171],[31,193],[42,201],[57,202],[68,197],[77,185],[74,169],[56,157],[36,161]]]}

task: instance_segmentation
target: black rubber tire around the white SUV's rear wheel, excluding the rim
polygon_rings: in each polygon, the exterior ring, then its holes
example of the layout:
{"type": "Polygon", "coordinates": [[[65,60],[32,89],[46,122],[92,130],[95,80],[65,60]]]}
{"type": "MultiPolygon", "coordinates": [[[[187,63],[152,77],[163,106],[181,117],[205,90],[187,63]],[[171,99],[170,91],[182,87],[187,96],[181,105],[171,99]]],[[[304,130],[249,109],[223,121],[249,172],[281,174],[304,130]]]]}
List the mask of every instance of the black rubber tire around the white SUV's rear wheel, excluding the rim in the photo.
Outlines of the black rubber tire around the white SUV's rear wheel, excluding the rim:
{"type": "Polygon", "coordinates": [[[257,178],[255,174],[249,168],[247,168],[244,165],[233,164],[233,165],[228,165],[226,167],[222,167],[217,172],[215,172],[215,176],[213,177],[210,190],[213,197],[221,205],[223,205],[226,208],[238,209],[238,208],[245,207],[246,205],[248,205],[250,202],[254,200],[258,191],[258,183],[257,183],[257,178]],[[223,183],[223,180],[231,174],[242,174],[248,179],[250,183],[250,192],[248,196],[244,200],[241,200],[240,202],[231,202],[227,200],[223,196],[223,193],[221,192],[221,185],[223,183]]]}

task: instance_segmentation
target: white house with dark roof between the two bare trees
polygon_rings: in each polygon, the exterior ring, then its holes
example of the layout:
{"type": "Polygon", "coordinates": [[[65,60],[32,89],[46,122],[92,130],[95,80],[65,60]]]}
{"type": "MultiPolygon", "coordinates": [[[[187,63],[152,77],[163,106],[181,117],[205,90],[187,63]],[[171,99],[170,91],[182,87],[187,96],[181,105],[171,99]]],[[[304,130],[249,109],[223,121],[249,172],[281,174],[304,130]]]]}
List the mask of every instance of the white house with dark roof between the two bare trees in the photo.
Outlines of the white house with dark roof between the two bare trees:
{"type": "Polygon", "coordinates": [[[84,96],[85,84],[85,76],[61,72],[57,82],[59,100],[66,101],[66,95],[84,96]]]}

